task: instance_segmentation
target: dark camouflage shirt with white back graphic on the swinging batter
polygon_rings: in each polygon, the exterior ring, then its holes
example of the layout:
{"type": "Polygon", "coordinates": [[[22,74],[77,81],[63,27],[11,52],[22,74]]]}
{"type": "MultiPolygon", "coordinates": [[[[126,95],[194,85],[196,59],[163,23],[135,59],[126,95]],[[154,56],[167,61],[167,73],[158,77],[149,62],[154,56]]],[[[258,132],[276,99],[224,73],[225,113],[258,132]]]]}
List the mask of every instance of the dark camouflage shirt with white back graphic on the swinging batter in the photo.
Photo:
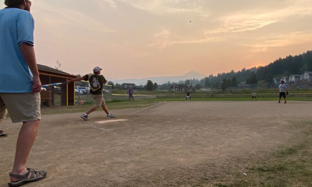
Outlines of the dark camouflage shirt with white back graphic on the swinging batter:
{"type": "Polygon", "coordinates": [[[103,85],[107,83],[107,80],[100,74],[86,74],[83,76],[85,81],[89,81],[90,93],[94,95],[100,95],[103,91],[103,85]]]}

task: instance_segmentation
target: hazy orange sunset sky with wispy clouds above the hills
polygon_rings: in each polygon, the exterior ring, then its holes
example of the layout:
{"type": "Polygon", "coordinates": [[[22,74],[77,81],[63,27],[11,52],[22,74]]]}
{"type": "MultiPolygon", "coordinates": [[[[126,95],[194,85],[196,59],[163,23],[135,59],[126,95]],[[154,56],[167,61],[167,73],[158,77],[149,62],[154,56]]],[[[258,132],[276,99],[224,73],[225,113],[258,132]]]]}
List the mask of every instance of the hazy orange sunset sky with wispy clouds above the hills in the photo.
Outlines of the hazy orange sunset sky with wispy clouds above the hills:
{"type": "Polygon", "coordinates": [[[31,13],[37,63],[71,74],[216,75],[312,50],[312,0],[32,0],[31,13]]]}

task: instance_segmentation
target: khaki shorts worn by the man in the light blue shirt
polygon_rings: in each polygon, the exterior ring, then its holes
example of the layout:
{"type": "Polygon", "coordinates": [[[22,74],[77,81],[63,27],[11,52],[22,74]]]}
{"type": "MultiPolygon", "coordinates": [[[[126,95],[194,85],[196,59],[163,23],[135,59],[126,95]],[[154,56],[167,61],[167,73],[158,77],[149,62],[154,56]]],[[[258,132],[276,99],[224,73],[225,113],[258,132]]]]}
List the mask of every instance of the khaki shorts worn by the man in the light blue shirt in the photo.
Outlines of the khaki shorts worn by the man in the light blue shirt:
{"type": "Polygon", "coordinates": [[[40,93],[0,93],[0,119],[6,109],[13,123],[41,119],[40,93]]]}

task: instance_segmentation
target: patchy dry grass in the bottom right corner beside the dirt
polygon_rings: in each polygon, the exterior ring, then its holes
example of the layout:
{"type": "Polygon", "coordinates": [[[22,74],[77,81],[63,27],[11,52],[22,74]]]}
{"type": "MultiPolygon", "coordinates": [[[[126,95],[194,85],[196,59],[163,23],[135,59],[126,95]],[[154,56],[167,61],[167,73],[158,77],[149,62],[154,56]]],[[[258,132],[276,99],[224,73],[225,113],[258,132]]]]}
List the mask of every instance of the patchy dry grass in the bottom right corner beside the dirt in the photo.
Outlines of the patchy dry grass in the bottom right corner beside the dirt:
{"type": "MultiPolygon", "coordinates": [[[[312,121],[292,124],[293,127],[308,126],[304,135],[294,141],[296,143],[280,147],[280,150],[246,166],[247,176],[241,172],[230,171],[228,175],[232,176],[232,180],[223,180],[215,184],[215,187],[312,186],[312,121]]],[[[205,181],[199,181],[194,186],[203,186],[204,183],[205,181]]]]}

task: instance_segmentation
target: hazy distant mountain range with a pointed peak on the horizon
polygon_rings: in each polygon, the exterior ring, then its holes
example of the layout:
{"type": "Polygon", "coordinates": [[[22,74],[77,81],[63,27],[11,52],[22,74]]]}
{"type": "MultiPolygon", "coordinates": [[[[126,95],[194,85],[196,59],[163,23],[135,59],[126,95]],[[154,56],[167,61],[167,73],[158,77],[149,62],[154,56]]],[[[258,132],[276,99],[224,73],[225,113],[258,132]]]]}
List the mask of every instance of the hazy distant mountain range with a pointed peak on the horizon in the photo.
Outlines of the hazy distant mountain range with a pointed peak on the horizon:
{"type": "Polygon", "coordinates": [[[145,85],[147,80],[151,80],[153,81],[153,83],[157,83],[157,84],[164,84],[164,83],[167,83],[168,81],[172,83],[172,82],[178,82],[180,80],[194,79],[194,78],[200,80],[204,77],[207,77],[207,75],[199,74],[192,70],[180,76],[148,77],[148,78],[143,78],[143,79],[119,79],[119,80],[109,79],[109,80],[113,81],[114,84],[134,83],[136,85],[140,85],[140,84],[145,85]]]}

